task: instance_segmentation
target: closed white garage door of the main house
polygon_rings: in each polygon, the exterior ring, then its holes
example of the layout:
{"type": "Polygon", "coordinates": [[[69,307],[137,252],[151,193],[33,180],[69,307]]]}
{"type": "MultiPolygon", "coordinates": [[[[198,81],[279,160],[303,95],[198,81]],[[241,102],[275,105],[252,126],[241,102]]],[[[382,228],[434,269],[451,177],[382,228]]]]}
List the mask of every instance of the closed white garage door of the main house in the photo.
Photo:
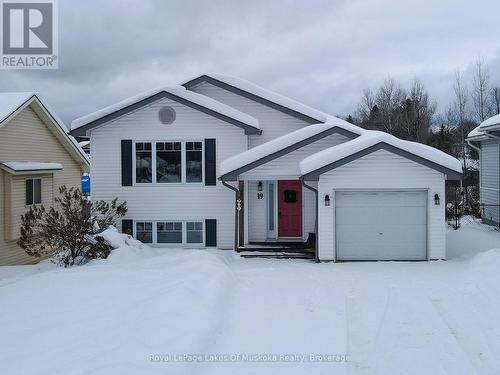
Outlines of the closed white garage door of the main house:
{"type": "Polygon", "coordinates": [[[338,260],[427,259],[426,191],[336,191],[338,260]]]}

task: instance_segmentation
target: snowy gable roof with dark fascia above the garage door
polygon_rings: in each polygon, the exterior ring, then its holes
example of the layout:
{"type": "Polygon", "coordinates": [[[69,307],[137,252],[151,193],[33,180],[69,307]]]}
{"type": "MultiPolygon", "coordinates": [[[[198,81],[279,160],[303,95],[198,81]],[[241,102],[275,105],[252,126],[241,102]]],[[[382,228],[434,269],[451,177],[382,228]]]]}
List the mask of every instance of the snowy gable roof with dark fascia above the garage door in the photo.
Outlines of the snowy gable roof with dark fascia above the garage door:
{"type": "Polygon", "coordinates": [[[462,165],[453,156],[421,143],[404,141],[388,133],[374,130],[365,130],[360,137],[352,141],[305,158],[300,163],[300,171],[305,179],[317,179],[322,173],[380,149],[445,173],[449,179],[459,179],[462,175],[462,165]]]}

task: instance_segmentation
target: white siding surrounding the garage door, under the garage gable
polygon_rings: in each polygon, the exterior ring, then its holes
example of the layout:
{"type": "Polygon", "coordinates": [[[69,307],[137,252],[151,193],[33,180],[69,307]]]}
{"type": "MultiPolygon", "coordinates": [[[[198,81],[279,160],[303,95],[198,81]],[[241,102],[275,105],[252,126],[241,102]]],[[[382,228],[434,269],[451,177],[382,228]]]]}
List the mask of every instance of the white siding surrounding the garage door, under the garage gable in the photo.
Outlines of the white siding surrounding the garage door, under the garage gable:
{"type": "Polygon", "coordinates": [[[335,260],[335,191],[349,189],[426,189],[428,191],[427,249],[430,259],[446,258],[444,175],[385,150],[376,151],[333,169],[319,180],[319,258],[335,260]],[[325,206],[325,195],[330,206],[325,206]],[[434,205],[434,194],[441,204],[434,205]]]}

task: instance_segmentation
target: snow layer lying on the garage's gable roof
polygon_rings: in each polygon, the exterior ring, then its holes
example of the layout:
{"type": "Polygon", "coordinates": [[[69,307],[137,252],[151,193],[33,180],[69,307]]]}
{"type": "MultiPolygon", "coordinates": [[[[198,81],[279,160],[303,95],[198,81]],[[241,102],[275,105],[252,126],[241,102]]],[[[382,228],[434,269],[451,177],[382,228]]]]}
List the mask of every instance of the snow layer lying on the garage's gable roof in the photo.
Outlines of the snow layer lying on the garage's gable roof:
{"type": "Polygon", "coordinates": [[[462,173],[460,161],[453,156],[433,147],[421,143],[404,141],[388,133],[375,130],[365,130],[363,134],[356,139],[327,148],[305,158],[300,163],[300,171],[305,175],[382,142],[441,165],[447,169],[451,169],[457,173],[462,173]]]}

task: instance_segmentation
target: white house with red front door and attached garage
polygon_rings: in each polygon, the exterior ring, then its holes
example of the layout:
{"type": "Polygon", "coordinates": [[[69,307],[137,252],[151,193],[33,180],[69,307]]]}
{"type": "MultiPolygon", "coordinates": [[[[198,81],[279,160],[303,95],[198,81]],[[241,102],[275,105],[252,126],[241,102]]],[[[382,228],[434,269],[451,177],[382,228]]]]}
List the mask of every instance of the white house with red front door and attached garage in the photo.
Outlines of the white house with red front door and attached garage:
{"type": "Polygon", "coordinates": [[[304,242],[319,260],[443,259],[458,160],[366,131],[250,82],[203,75],[73,121],[92,197],[158,246],[304,242]]]}

